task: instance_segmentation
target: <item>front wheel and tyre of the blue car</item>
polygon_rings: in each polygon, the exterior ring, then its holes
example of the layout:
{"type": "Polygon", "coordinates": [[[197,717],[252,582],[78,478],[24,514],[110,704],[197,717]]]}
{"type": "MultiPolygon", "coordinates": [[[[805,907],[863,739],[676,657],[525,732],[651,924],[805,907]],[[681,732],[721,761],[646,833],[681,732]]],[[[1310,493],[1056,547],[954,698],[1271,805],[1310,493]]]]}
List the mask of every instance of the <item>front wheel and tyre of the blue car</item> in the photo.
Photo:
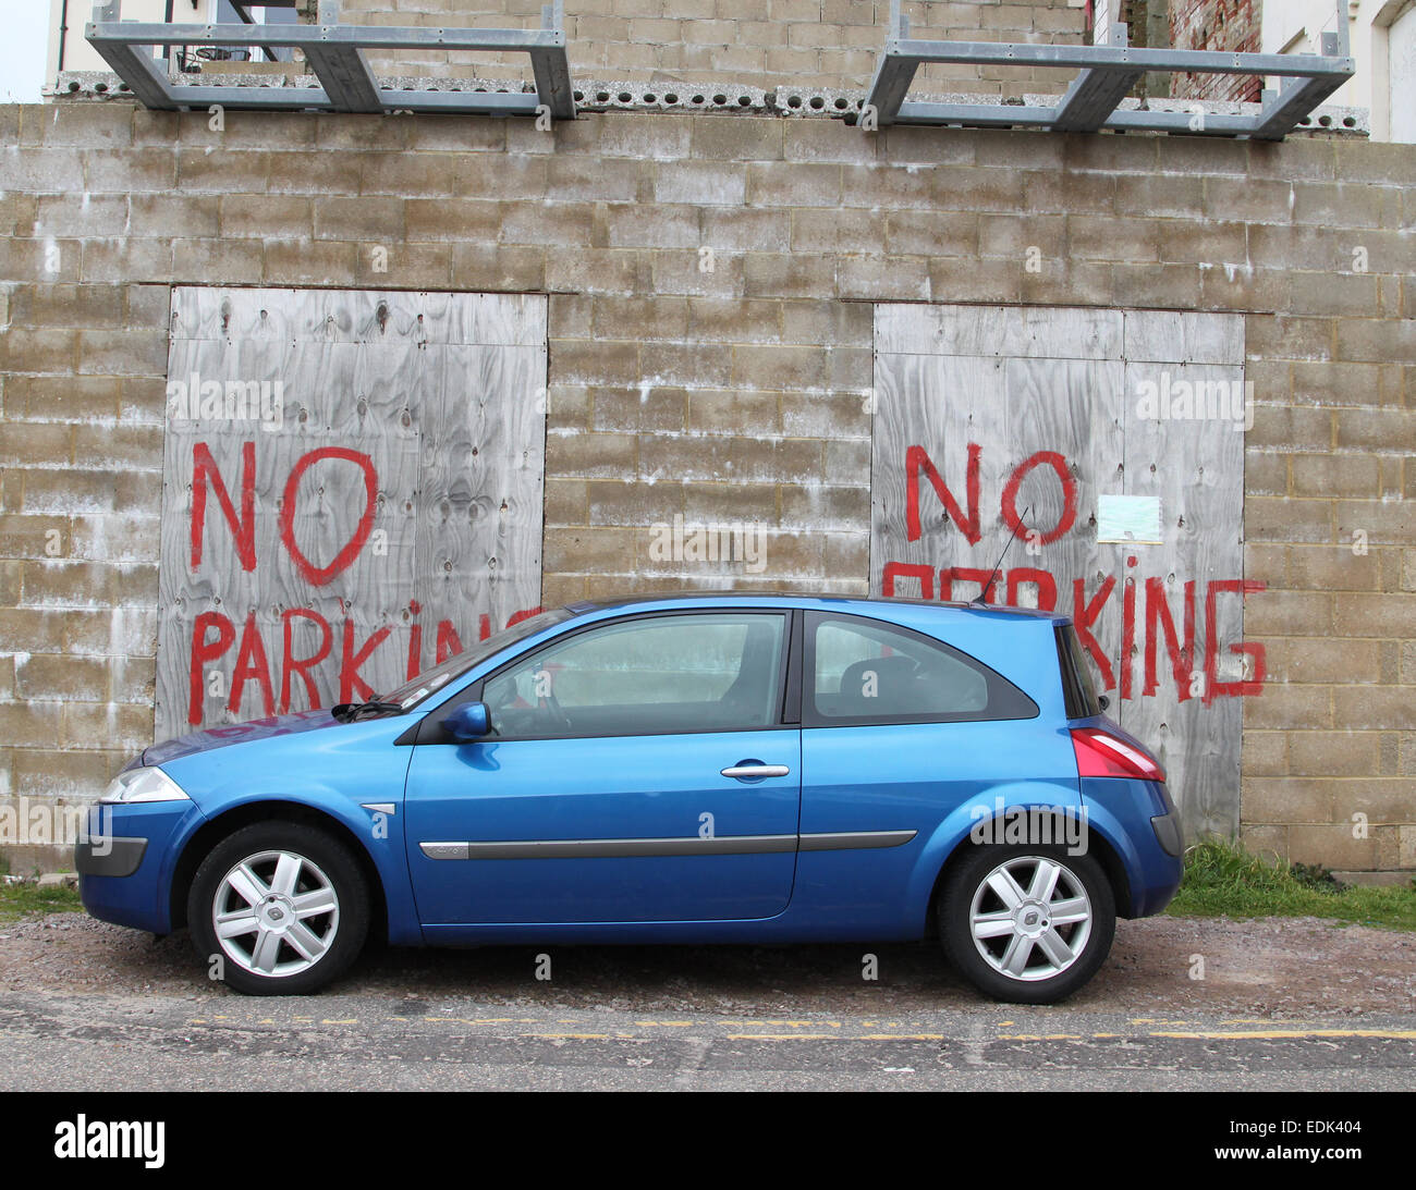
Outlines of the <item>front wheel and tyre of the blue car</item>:
{"type": "Polygon", "coordinates": [[[347,846],[314,826],[258,822],[201,862],[187,923],[211,978],[249,996],[302,996],[358,957],[368,906],[347,846]]]}

